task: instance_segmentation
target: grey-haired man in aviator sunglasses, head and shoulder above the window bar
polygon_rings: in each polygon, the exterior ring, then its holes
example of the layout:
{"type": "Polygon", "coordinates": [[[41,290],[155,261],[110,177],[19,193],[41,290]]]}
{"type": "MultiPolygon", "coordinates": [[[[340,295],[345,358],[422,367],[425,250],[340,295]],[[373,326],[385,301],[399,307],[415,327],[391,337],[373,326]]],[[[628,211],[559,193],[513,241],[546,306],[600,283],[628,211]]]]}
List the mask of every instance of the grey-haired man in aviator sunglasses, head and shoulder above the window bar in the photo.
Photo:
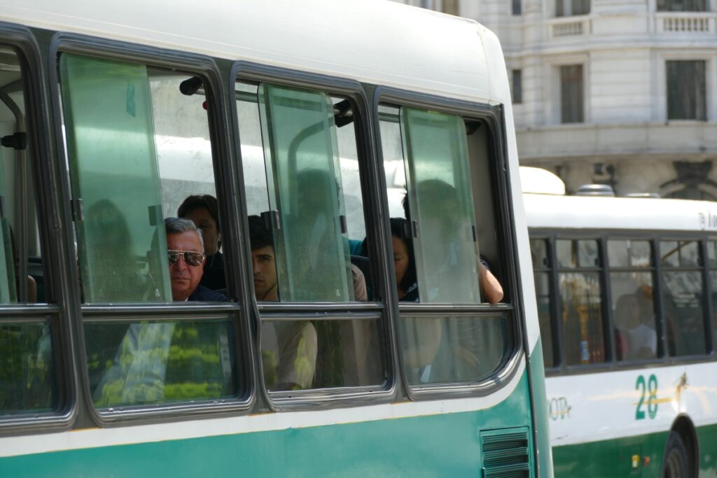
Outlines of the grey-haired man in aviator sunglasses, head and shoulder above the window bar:
{"type": "Polygon", "coordinates": [[[227,297],[199,285],[204,274],[204,242],[201,232],[189,219],[169,217],[164,220],[174,302],[209,301],[226,302],[227,297]]]}

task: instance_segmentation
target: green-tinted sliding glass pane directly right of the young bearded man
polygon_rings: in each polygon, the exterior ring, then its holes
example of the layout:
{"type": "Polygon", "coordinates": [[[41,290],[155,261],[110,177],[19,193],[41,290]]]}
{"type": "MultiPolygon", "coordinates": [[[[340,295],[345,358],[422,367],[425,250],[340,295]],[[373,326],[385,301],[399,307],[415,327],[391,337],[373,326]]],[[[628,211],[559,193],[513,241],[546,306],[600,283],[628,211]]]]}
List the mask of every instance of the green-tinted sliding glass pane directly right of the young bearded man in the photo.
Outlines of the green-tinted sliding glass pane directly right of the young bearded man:
{"type": "Polygon", "coordinates": [[[351,302],[333,103],[323,92],[259,87],[277,279],[283,302],[351,302]]]}

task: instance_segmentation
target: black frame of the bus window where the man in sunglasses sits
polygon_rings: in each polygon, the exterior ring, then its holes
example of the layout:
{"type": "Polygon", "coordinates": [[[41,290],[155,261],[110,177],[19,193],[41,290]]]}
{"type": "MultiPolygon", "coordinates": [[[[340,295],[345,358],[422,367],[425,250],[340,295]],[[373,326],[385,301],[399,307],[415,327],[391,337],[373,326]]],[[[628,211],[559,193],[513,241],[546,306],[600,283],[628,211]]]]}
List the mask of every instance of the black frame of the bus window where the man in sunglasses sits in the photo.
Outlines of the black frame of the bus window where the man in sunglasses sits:
{"type": "MultiPolygon", "coordinates": [[[[201,54],[179,52],[176,50],[149,47],[141,44],[120,42],[110,39],[91,37],[82,34],[71,34],[57,32],[52,36],[49,47],[49,82],[51,92],[51,104],[55,128],[54,140],[57,144],[57,155],[60,168],[60,189],[64,202],[63,214],[67,218],[67,224],[71,224],[72,189],[70,183],[70,161],[67,157],[65,141],[62,137],[62,98],[60,93],[60,54],[80,54],[95,59],[108,59],[134,64],[143,64],[147,67],[157,67],[168,71],[179,71],[186,73],[187,78],[192,76],[201,77],[205,84],[207,108],[207,120],[209,128],[209,139],[212,145],[212,160],[214,168],[214,185],[217,189],[217,196],[224,198],[219,201],[219,219],[222,221],[222,234],[227,239],[224,244],[224,260],[227,271],[227,295],[233,302],[227,303],[164,303],[145,304],[133,303],[127,305],[87,305],[80,302],[79,290],[75,293],[68,293],[68,302],[72,315],[75,317],[73,325],[77,329],[78,344],[76,346],[76,360],[80,367],[77,375],[80,377],[82,405],[85,414],[98,424],[98,426],[116,426],[131,423],[176,421],[178,418],[189,418],[196,416],[225,416],[227,414],[247,414],[252,410],[256,398],[256,377],[255,377],[255,353],[252,350],[250,325],[248,320],[247,301],[242,300],[244,287],[237,287],[245,282],[240,274],[235,276],[230,271],[244,270],[246,264],[239,264],[239,223],[237,218],[237,204],[232,201],[232,178],[236,177],[233,168],[233,161],[230,157],[229,135],[224,128],[222,118],[225,118],[225,95],[223,90],[222,75],[217,63],[212,57],[201,54]],[[238,282],[238,283],[237,283],[238,282]],[[87,374],[87,355],[85,350],[85,337],[83,324],[85,318],[92,322],[101,320],[116,320],[118,315],[123,315],[127,320],[125,323],[137,323],[142,320],[180,320],[178,317],[187,315],[190,312],[203,314],[201,317],[194,317],[195,320],[210,320],[217,315],[224,315],[232,324],[234,341],[232,346],[235,351],[237,371],[237,395],[231,398],[205,399],[173,403],[149,403],[138,406],[122,406],[110,408],[95,408],[92,403],[92,392],[90,391],[89,376],[87,374]],[[133,314],[136,320],[131,320],[133,314]]],[[[71,229],[71,228],[70,228],[71,229]]],[[[74,234],[72,230],[65,231],[67,249],[65,254],[70,258],[74,257],[72,246],[74,234]]],[[[74,262],[70,262],[74,264],[74,262]]],[[[66,291],[79,284],[77,267],[68,267],[65,271],[67,281],[66,291]]]]}

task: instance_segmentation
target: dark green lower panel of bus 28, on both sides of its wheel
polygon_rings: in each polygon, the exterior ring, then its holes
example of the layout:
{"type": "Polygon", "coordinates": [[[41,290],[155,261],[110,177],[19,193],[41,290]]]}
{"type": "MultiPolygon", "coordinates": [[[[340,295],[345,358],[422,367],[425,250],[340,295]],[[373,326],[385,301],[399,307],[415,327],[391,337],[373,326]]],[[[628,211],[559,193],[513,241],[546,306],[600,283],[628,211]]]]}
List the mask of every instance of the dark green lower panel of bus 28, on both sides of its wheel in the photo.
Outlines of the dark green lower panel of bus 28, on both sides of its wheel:
{"type": "MultiPolygon", "coordinates": [[[[700,478],[717,478],[717,425],[697,430],[700,478]]],[[[621,439],[555,446],[556,478],[660,477],[668,431],[621,439]],[[637,457],[637,460],[633,460],[637,457]],[[645,463],[645,457],[649,460],[645,463]]],[[[688,452],[689,453],[689,452],[688,452]]]]}

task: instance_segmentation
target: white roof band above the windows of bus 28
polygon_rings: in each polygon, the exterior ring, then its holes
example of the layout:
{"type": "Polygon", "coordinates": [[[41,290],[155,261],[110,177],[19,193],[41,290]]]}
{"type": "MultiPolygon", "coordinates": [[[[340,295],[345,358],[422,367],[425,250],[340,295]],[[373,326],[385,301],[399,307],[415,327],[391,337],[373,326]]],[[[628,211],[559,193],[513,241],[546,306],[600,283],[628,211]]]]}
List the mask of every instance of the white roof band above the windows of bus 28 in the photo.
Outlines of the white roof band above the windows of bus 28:
{"type": "Polygon", "coordinates": [[[523,194],[529,228],[715,231],[717,203],[523,194]]]}

